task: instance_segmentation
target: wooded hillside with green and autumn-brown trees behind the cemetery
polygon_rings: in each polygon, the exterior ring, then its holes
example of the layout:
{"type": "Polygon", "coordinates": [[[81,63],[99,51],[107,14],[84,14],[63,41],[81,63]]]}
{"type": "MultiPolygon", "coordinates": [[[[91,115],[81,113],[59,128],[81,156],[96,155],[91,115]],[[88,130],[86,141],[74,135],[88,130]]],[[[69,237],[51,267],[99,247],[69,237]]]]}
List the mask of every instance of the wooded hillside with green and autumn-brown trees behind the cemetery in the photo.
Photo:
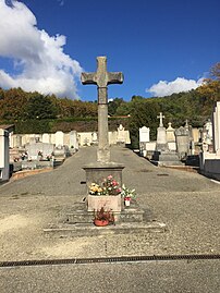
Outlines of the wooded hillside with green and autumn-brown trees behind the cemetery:
{"type": "MultiPolygon", "coordinates": [[[[164,126],[184,125],[186,119],[194,127],[201,127],[211,117],[215,101],[220,100],[220,63],[215,66],[215,80],[188,93],[167,97],[133,96],[131,101],[115,98],[109,102],[109,130],[120,124],[130,130],[132,147],[138,147],[139,127],[150,127],[150,139],[156,139],[160,112],[164,126]]],[[[97,131],[97,101],[88,102],[26,93],[21,88],[0,88],[0,124],[15,124],[16,133],[51,133],[56,131],[97,131]]]]}

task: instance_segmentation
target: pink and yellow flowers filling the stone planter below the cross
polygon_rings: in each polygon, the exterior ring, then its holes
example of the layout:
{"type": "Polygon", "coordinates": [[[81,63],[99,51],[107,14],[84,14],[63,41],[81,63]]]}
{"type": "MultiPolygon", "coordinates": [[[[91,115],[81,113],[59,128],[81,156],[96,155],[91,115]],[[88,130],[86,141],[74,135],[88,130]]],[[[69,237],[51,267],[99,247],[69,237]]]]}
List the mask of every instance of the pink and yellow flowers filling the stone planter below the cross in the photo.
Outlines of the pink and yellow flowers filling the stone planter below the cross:
{"type": "Polygon", "coordinates": [[[91,195],[119,195],[121,187],[112,175],[108,175],[101,184],[91,183],[89,186],[89,194],[91,195]]]}

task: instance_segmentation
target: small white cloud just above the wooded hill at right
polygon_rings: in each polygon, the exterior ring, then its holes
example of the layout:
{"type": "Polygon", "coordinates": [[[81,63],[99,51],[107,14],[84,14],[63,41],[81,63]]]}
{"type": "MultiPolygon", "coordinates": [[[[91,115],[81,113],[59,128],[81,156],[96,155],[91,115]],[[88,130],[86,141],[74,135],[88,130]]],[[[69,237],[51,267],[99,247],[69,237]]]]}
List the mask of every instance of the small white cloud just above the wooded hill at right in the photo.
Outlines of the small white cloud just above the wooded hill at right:
{"type": "Polygon", "coordinates": [[[184,77],[178,77],[173,82],[160,81],[158,84],[147,88],[146,91],[152,94],[155,97],[164,97],[172,95],[173,93],[188,91],[195,89],[201,85],[204,78],[198,81],[186,80],[184,77]]]}

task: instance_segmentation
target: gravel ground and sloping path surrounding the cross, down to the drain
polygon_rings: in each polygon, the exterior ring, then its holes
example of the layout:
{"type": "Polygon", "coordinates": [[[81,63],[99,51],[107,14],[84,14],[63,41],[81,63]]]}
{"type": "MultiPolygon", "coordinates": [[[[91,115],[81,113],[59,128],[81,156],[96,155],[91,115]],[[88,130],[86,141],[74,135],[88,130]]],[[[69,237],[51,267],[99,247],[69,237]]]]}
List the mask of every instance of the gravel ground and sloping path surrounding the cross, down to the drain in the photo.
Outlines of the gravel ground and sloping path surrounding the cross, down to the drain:
{"type": "Polygon", "coordinates": [[[158,254],[219,254],[220,185],[197,173],[158,168],[132,150],[111,148],[124,163],[123,182],[136,188],[139,205],[164,233],[46,237],[66,208],[85,196],[82,167],[96,160],[96,148],[82,148],[58,169],[0,186],[0,261],[158,254]],[[97,245],[98,244],[98,245],[97,245]]]}

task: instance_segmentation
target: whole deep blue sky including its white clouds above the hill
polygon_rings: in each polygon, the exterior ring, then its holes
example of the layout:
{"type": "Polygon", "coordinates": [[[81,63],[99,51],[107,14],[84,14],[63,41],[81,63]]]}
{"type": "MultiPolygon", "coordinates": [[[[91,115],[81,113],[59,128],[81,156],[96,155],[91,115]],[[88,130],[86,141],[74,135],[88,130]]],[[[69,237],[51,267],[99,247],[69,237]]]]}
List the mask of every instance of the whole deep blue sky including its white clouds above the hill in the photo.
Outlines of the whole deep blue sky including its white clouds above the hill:
{"type": "Polygon", "coordinates": [[[95,100],[80,75],[107,56],[124,74],[109,98],[196,88],[220,62],[219,15],[219,0],[0,0],[0,86],[95,100]]]}

